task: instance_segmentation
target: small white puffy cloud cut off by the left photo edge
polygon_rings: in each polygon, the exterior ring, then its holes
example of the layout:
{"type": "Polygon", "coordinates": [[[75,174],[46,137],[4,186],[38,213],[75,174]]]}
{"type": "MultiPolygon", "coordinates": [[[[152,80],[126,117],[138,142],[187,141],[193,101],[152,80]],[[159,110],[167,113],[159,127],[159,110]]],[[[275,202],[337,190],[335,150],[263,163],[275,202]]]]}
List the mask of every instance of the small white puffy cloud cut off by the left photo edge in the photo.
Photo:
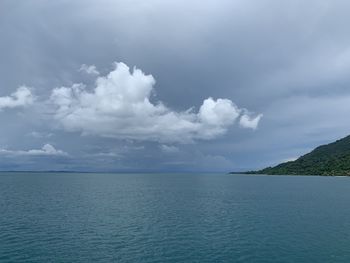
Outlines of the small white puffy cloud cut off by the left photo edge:
{"type": "Polygon", "coordinates": [[[19,87],[10,96],[0,97],[0,110],[4,108],[24,107],[32,104],[34,96],[29,88],[19,87]]]}

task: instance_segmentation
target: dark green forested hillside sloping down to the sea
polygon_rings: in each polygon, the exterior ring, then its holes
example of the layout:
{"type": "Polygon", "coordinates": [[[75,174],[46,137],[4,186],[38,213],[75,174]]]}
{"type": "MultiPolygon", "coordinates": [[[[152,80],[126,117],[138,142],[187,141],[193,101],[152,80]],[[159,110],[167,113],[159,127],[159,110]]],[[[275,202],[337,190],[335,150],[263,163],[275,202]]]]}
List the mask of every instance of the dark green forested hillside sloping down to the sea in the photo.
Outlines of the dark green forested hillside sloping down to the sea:
{"type": "Polygon", "coordinates": [[[244,174],[350,176],[350,136],[321,145],[295,161],[244,174]]]}

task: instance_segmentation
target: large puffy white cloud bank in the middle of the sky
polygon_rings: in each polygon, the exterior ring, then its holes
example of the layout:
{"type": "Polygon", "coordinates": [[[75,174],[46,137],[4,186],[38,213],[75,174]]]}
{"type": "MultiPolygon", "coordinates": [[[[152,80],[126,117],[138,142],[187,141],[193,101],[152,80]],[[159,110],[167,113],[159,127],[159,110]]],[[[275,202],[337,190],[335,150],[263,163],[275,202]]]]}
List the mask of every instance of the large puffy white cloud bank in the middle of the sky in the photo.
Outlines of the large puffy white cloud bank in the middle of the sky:
{"type": "Polygon", "coordinates": [[[238,118],[241,127],[256,129],[261,118],[242,114],[245,110],[229,99],[205,99],[198,112],[173,111],[151,101],[154,85],[152,75],[115,63],[107,76],[97,77],[91,91],[83,84],[54,89],[54,118],[65,130],[84,135],[179,143],[216,138],[238,118]]]}

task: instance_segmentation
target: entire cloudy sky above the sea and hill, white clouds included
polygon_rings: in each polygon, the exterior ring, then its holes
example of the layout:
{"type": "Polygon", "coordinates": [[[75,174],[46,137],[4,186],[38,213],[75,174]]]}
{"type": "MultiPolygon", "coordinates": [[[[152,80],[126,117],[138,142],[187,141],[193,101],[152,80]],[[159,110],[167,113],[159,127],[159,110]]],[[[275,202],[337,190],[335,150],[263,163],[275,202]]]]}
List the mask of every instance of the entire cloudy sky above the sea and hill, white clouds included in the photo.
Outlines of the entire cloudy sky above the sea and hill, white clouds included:
{"type": "Polygon", "coordinates": [[[0,0],[0,170],[228,172],[350,133],[340,0],[0,0]]]}

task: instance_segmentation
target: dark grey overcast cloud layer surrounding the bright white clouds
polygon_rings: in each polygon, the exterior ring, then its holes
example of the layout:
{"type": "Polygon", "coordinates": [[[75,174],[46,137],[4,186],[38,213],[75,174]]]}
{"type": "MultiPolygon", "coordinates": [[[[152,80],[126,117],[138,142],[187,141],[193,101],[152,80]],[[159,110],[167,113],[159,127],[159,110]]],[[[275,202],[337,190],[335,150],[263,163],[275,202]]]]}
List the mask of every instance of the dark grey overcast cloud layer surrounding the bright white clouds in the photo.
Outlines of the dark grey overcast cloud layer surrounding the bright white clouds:
{"type": "MultiPolygon", "coordinates": [[[[84,71],[95,65],[106,75],[118,61],[152,74],[156,98],[173,111],[198,111],[214,97],[264,114],[255,131],[231,128],[215,140],[175,145],[67,133],[42,106],[7,108],[1,148],[55,145],[71,157],[45,156],[53,169],[151,163],[154,170],[227,171],[294,158],[349,133],[349,8],[319,0],[1,1],[0,97],[21,85],[39,101],[73,83],[92,90],[94,76],[84,71]]],[[[41,168],[39,160],[30,168],[41,168]]]]}

